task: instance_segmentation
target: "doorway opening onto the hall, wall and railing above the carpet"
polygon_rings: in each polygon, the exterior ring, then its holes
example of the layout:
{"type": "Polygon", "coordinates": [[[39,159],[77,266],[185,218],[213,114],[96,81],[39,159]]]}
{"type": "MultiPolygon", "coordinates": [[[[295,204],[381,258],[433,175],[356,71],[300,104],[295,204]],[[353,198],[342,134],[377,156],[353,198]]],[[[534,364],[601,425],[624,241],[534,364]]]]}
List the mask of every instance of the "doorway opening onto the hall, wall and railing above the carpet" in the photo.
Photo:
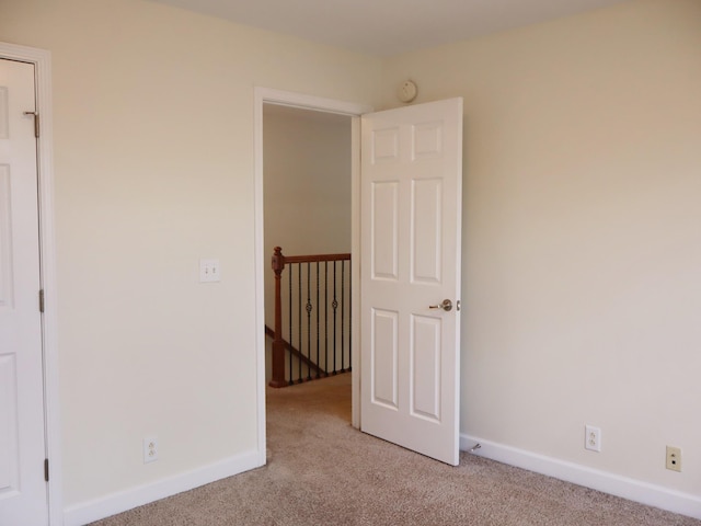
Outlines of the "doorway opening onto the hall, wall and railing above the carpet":
{"type": "Polygon", "coordinates": [[[266,384],[277,388],[352,368],[350,139],[348,115],[263,106],[264,248],[277,266],[264,273],[266,384]]]}

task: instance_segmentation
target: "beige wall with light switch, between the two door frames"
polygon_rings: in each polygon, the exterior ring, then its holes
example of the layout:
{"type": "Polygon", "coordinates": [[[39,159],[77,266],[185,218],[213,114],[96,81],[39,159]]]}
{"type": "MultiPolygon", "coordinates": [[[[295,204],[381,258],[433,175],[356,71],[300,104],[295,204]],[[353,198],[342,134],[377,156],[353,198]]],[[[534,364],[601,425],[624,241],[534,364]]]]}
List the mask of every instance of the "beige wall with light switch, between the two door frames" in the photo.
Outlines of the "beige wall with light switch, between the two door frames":
{"type": "Polygon", "coordinates": [[[1,12],[53,54],[65,505],[255,449],[254,87],[372,104],[379,60],[137,0],[1,12]]]}

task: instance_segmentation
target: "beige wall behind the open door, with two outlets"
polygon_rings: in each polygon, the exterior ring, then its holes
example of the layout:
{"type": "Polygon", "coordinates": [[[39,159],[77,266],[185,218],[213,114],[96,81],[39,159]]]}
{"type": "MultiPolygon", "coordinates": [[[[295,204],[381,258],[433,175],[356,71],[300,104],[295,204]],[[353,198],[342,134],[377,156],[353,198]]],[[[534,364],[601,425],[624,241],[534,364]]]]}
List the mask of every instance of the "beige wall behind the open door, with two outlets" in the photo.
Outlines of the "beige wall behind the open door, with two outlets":
{"type": "Polygon", "coordinates": [[[397,57],[384,106],[406,78],[466,102],[462,433],[701,495],[701,2],[397,57]]]}

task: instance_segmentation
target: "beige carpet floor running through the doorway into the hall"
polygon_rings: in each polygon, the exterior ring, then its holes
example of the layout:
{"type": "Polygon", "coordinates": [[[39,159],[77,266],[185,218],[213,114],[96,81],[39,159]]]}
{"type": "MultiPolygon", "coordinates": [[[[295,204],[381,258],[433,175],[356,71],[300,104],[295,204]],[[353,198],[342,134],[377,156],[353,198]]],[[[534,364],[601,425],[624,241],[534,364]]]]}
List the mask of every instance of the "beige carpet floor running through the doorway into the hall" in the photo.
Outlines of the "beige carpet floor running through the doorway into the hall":
{"type": "Polygon", "coordinates": [[[701,526],[461,454],[452,468],[354,430],[350,375],[268,390],[267,466],[95,526],[701,526]]]}

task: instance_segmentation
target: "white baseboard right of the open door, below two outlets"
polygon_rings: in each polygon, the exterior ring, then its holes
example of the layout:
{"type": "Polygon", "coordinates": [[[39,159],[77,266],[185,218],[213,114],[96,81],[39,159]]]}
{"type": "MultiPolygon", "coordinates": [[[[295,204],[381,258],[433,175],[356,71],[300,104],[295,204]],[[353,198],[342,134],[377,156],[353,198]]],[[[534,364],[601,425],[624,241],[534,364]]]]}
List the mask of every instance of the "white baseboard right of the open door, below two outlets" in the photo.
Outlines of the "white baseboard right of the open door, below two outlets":
{"type": "Polygon", "coordinates": [[[481,447],[475,449],[473,454],[480,457],[547,474],[548,477],[591,488],[593,490],[602,491],[648,506],[701,518],[701,496],[545,457],[525,449],[483,441],[474,436],[460,435],[460,449],[463,451],[474,447],[478,443],[481,447]]]}

